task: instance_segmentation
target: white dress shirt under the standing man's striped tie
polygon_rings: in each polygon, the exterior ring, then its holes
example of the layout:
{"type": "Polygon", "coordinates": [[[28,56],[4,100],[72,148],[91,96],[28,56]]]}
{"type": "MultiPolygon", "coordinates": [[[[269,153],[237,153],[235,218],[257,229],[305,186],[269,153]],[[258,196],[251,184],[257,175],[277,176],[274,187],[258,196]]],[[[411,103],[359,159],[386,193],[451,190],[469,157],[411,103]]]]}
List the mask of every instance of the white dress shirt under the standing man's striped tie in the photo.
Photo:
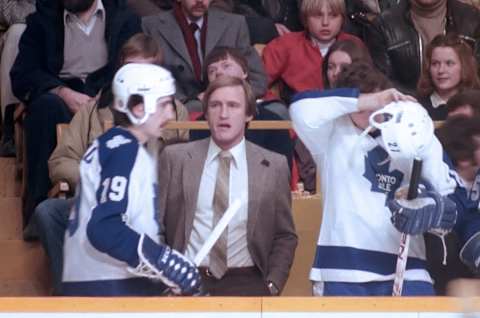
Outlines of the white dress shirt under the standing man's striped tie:
{"type": "MultiPolygon", "coordinates": [[[[200,181],[193,229],[188,240],[186,256],[194,259],[213,230],[213,195],[218,171],[218,154],[222,151],[212,139],[208,147],[207,160],[203,167],[200,181]]],[[[231,204],[235,199],[240,199],[240,210],[227,227],[227,266],[247,267],[253,266],[252,257],[247,248],[247,221],[248,221],[248,169],[245,152],[245,138],[231,148],[232,161],[230,163],[229,199],[231,204]]],[[[200,264],[208,266],[210,257],[200,264]]]]}

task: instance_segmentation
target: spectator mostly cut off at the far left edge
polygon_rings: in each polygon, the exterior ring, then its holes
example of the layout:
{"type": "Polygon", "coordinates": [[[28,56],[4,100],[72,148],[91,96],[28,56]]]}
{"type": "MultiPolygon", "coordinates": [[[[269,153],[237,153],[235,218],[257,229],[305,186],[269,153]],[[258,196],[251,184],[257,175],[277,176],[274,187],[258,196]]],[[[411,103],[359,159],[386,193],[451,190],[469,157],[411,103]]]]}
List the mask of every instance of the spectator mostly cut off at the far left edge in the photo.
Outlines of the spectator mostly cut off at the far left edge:
{"type": "Polygon", "coordinates": [[[25,30],[25,18],[35,11],[35,0],[0,1],[0,104],[3,119],[0,156],[14,156],[13,113],[18,99],[13,96],[10,69],[18,53],[18,41],[25,30]]]}

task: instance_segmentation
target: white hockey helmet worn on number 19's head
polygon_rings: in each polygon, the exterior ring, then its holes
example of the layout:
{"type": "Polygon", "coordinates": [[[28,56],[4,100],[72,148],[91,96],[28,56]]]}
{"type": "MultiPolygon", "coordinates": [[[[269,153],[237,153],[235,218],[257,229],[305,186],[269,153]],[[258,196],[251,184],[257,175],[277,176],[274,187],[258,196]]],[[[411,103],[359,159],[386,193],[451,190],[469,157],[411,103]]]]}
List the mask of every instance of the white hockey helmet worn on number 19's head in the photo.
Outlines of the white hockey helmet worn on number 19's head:
{"type": "Polygon", "coordinates": [[[112,92],[113,107],[127,114],[132,124],[141,125],[155,113],[159,98],[175,94],[175,80],[169,71],[158,65],[130,63],[115,74],[112,92]],[[132,95],[143,97],[145,112],[142,118],[136,117],[128,108],[132,95]]]}

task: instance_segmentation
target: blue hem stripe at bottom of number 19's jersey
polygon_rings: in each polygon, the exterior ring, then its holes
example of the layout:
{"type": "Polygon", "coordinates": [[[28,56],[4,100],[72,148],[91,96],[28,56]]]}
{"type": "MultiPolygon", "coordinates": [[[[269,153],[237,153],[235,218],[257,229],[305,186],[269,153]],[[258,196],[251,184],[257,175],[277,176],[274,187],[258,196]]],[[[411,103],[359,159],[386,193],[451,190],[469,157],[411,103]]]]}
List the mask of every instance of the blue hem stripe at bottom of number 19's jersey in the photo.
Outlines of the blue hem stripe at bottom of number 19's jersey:
{"type": "Polygon", "coordinates": [[[63,282],[62,296],[159,296],[165,285],[148,278],[63,282]]]}

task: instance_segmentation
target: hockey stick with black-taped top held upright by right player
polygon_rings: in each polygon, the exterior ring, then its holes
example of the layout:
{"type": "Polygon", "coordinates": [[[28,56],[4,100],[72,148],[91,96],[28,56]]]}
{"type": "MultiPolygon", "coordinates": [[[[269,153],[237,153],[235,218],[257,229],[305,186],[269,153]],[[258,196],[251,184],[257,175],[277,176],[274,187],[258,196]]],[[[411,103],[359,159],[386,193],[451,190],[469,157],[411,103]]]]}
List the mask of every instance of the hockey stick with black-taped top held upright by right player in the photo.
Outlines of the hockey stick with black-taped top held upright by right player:
{"type": "MultiPolygon", "coordinates": [[[[407,200],[413,200],[418,195],[418,184],[422,174],[422,159],[413,159],[412,175],[408,185],[407,200]]],[[[400,248],[398,250],[397,266],[395,269],[395,279],[393,281],[392,296],[402,296],[403,281],[405,270],[407,268],[408,249],[410,246],[410,235],[402,233],[400,237],[400,248]]]]}

